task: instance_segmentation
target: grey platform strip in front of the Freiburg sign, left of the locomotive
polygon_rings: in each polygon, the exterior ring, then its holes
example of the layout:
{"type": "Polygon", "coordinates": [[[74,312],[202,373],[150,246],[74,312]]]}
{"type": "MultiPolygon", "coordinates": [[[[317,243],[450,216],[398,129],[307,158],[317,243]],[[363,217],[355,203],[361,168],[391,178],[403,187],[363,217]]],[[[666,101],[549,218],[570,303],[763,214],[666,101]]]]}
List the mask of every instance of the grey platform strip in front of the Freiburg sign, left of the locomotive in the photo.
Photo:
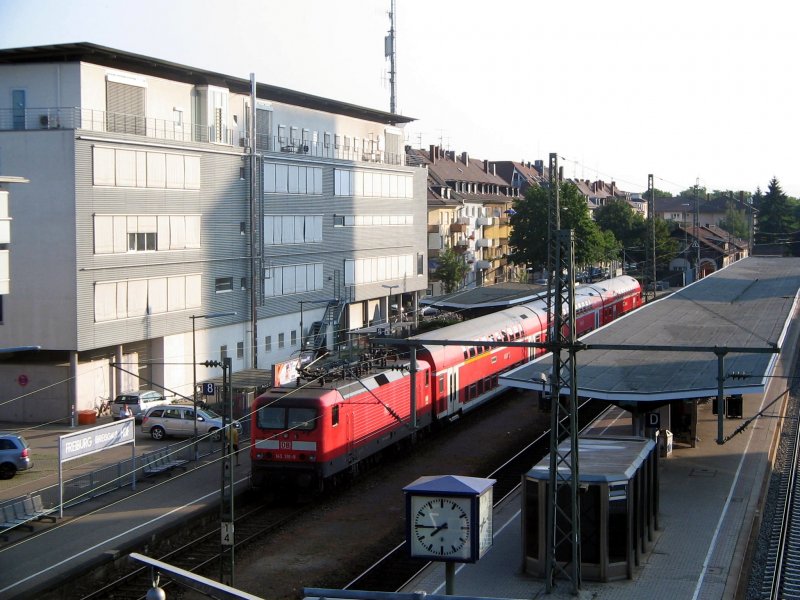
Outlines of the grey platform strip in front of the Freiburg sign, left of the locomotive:
{"type": "MultiPolygon", "coordinates": [[[[41,444],[47,445],[46,441],[41,444]]],[[[86,582],[78,576],[93,565],[122,557],[133,544],[141,547],[155,541],[167,529],[218,507],[218,457],[192,462],[185,472],[140,480],[136,491],[125,487],[68,507],[63,519],[36,523],[32,532],[11,532],[9,541],[0,544],[0,598],[47,597],[42,596],[43,590],[67,580],[74,580],[76,590],[80,589],[86,582]]],[[[240,453],[239,462],[233,472],[237,493],[249,486],[246,452],[240,453]]]]}

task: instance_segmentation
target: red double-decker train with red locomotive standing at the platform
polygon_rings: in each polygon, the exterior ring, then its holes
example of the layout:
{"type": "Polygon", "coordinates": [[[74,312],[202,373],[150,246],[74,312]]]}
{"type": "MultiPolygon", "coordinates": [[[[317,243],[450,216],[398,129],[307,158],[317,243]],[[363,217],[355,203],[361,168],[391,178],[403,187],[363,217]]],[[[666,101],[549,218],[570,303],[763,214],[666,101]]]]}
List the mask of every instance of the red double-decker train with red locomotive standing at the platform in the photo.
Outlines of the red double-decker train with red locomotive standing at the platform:
{"type": "MultiPolygon", "coordinates": [[[[633,277],[579,285],[576,333],[593,331],[641,304],[641,286],[633,277]]],[[[539,298],[409,338],[421,344],[413,370],[408,358],[384,350],[270,388],[252,407],[251,485],[319,490],[358,473],[385,450],[499,395],[505,391],[498,385],[501,373],[544,352],[481,342],[544,342],[547,326],[547,302],[539,298]],[[439,340],[474,344],[426,343],[439,340]]]]}

